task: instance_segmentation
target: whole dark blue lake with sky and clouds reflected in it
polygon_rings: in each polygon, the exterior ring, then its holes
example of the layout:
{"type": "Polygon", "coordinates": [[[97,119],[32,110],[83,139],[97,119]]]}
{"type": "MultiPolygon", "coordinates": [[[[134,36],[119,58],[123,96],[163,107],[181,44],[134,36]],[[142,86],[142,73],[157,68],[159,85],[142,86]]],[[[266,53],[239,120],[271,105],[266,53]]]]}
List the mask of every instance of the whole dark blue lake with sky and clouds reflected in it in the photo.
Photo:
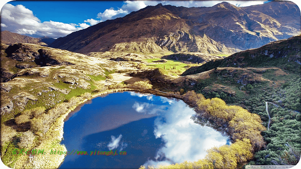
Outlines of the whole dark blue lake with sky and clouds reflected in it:
{"type": "Polygon", "coordinates": [[[60,168],[139,168],[197,161],[207,149],[229,144],[219,132],[194,123],[193,114],[182,100],[156,95],[119,92],[94,98],[65,120],[62,144],[76,153],[65,156],[60,168]],[[110,150],[117,155],[97,155],[110,150]]]}

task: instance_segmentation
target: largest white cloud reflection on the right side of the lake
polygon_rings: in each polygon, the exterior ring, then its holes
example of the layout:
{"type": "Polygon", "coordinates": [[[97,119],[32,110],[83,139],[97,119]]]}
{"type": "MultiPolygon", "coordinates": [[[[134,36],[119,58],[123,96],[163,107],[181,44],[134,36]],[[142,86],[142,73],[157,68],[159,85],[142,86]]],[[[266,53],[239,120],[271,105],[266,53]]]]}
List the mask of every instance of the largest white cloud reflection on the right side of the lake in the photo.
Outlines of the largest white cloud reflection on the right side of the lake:
{"type": "Polygon", "coordinates": [[[219,132],[194,123],[190,119],[194,113],[184,102],[179,101],[161,117],[157,117],[154,135],[162,138],[165,145],[157,151],[156,160],[148,160],[144,166],[197,161],[206,156],[205,150],[227,143],[227,138],[219,132]]]}

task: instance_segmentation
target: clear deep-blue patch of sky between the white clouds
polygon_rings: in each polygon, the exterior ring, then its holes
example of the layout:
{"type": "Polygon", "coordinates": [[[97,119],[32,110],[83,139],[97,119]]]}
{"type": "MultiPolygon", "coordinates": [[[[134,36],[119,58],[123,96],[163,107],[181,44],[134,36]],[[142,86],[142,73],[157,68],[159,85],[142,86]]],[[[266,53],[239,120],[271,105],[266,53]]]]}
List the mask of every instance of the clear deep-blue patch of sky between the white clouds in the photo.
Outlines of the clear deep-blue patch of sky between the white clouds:
{"type": "Polygon", "coordinates": [[[99,12],[108,7],[120,8],[123,1],[11,1],[14,6],[22,4],[34,12],[41,22],[83,23],[89,18],[96,19],[99,12]],[[83,12],[84,11],[84,12],[83,12]]]}

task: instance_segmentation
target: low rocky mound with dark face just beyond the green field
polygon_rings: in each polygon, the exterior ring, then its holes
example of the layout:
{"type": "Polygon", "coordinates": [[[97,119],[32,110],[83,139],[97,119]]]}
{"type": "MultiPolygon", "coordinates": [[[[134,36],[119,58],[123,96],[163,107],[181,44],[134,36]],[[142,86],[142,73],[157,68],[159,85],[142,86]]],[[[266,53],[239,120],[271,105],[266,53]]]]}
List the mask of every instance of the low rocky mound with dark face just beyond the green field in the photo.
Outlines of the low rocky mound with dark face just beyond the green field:
{"type": "Polygon", "coordinates": [[[223,59],[221,56],[214,56],[211,54],[201,53],[201,52],[178,52],[175,54],[170,54],[163,56],[162,58],[165,59],[172,59],[172,60],[182,60],[191,63],[201,63],[204,64],[209,62],[212,59],[223,59]]]}

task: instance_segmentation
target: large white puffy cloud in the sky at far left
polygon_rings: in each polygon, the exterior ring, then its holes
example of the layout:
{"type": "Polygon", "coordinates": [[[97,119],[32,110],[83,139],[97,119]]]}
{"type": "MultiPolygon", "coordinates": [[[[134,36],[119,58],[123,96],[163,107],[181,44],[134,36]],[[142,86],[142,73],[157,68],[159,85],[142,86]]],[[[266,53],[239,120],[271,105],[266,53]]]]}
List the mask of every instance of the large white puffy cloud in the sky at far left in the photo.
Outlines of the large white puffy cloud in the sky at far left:
{"type": "Polygon", "coordinates": [[[48,36],[58,38],[74,31],[89,27],[86,23],[61,23],[55,21],[41,22],[33,12],[23,5],[6,3],[1,10],[1,26],[19,34],[30,34],[33,37],[48,36]]]}

